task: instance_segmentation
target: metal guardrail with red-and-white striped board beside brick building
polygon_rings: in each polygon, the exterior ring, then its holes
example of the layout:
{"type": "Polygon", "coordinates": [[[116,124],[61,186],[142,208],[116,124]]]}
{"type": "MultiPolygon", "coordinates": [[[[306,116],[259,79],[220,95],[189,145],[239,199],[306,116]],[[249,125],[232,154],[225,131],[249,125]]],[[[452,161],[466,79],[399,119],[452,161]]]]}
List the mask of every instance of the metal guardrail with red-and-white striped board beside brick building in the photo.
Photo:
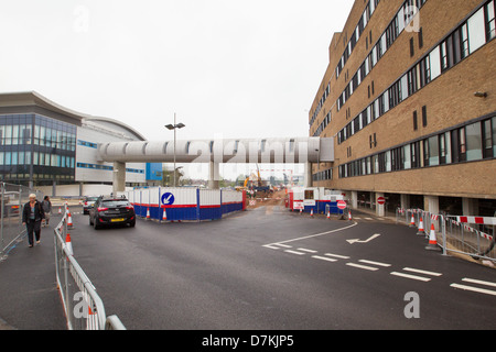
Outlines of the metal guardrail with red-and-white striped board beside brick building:
{"type": "MultiPolygon", "coordinates": [[[[475,260],[496,261],[496,218],[461,217],[431,213],[422,209],[397,208],[396,221],[411,228],[422,224],[427,238],[433,229],[443,254],[453,252],[475,260]]],[[[418,233],[420,232],[419,230],[418,233]]]]}

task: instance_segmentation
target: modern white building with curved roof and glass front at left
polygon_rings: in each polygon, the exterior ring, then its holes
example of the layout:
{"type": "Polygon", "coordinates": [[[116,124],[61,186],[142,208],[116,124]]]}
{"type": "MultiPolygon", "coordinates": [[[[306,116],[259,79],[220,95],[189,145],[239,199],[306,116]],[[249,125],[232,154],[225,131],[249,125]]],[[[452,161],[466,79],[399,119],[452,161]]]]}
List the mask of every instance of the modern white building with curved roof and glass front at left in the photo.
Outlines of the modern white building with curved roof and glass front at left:
{"type": "MultiPolygon", "coordinates": [[[[0,182],[31,187],[111,185],[114,166],[97,157],[103,142],[144,141],[117,120],[78,113],[37,92],[0,94],[0,182]]],[[[161,179],[161,164],[127,166],[128,186],[161,179]]]]}

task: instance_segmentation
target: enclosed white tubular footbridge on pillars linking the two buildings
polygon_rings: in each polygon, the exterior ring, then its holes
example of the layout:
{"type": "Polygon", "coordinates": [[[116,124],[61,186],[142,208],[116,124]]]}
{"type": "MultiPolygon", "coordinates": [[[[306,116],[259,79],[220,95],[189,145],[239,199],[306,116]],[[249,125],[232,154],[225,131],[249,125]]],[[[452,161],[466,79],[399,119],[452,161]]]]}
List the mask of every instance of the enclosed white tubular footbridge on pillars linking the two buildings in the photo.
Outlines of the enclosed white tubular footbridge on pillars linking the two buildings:
{"type": "Polygon", "coordinates": [[[219,164],[305,164],[311,182],[311,164],[334,162],[333,138],[218,139],[194,141],[133,141],[98,144],[99,162],[115,163],[114,186],[126,184],[126,163],[209,163],[212,188],[218,187],[219,164]]]}

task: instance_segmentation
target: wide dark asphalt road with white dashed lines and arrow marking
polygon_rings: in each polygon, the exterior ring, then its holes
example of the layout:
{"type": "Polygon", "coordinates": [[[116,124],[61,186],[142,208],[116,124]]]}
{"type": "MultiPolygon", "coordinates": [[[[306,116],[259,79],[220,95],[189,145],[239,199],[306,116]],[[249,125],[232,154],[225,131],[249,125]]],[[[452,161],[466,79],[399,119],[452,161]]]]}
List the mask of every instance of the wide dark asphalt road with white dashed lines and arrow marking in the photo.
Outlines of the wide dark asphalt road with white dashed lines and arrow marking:
{"type": "Polygon", "coordinates": [[[74,255],[127,329],[496,328],[494,270],[427,251],[414,229],[376,217],[273,207],[133,229],[73,221],[74,255]],[[405,315],[408,293],[419,318],[405,315]]]}

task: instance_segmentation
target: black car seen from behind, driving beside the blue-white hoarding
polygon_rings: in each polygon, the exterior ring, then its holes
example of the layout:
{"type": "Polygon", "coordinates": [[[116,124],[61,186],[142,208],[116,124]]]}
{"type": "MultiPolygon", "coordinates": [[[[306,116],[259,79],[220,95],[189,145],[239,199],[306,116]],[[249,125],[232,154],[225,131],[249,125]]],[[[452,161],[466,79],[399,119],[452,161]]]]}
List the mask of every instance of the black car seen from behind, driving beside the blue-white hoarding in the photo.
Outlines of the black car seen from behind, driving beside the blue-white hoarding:
{"type": "Polygon", "coordinates": [[[99,197],[89,208],[89,224],[95,230],[104,226],[136,226],[134,208],[126,198],[99,197]]]}

